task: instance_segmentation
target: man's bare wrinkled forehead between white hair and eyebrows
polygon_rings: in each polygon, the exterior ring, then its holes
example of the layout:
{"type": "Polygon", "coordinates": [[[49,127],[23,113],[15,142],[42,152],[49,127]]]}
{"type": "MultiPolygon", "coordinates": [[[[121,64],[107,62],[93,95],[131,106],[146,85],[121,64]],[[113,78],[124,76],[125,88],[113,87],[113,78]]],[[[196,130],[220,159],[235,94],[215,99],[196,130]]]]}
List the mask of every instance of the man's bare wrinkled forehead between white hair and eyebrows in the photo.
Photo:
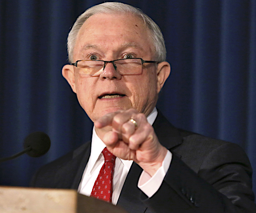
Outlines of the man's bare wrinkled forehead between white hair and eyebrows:
{"type": "Polygon", "coordinates": [[[79,30],[74,56],[84,48],[134,47],[151,53],[144,21],[132,14],[94,14],[79,30]]]}

